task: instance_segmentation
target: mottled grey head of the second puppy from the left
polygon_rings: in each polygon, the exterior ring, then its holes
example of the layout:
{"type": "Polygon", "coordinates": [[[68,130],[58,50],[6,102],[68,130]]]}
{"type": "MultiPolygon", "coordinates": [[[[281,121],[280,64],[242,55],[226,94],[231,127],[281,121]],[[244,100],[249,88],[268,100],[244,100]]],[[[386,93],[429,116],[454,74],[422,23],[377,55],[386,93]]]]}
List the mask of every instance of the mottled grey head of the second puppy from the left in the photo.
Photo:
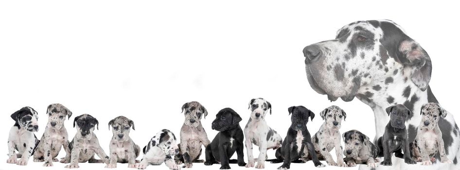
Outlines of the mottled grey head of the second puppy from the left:
{"type": "Polygon", "coordinates": [[[72,112],[59,103],[50,104],[46,109],[46,114],[48,114],[48,124],[46,126],[53,129],[61,129],[64,126],[66,116],[68,119],[72,116],[72,112]]]}

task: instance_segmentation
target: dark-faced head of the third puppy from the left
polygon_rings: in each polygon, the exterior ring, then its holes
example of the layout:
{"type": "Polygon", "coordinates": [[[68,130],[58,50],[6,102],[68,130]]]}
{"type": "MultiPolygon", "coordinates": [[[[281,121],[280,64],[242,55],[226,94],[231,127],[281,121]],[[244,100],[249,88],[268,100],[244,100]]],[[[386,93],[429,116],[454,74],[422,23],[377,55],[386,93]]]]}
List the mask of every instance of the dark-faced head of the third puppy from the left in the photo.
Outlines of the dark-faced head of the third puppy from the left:
{"type": "Polygon", "coordinates": [[[99,129],[99,121],[96,118],[88,114],[83,114],[73,119],[73,127],[77,125],[77,134],[75,135],[79,139],[91,139],[94,131],[94,127],[99,129]]]}

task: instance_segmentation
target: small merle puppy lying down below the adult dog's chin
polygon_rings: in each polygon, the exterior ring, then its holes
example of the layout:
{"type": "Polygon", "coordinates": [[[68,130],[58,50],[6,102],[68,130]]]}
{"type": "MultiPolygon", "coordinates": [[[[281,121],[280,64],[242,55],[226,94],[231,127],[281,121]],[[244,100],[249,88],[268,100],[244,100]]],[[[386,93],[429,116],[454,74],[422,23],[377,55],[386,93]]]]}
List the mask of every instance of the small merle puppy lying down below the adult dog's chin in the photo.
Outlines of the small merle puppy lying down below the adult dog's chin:
{"type": "Polygon", "coordinates": [[[357,130],[351,130],[343,133],[343,141],[345,142],[344,161],[349,167],[354,167],[356,164],[367,164],[368,167],[378,167],[379,149],[372,144],[369,137],[357,130]]]}

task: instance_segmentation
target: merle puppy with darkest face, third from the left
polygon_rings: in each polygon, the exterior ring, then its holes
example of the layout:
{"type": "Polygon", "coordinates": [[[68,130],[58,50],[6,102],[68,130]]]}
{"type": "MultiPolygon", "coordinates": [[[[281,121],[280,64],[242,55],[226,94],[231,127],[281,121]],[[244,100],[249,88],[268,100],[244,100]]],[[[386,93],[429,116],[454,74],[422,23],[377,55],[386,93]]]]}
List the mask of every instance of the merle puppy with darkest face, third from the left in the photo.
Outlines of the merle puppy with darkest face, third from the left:
{"type": "Polygon", "coordinates": [[[77,128],[77,133],[69,143],[71,150],[71,162],[65,168],[79,168],[78,163],[109,163],[109,157],[106,155],[96,134],[93,133],[95,128],[99,129],[99,121],[88,114],[83,114],[73,119],[73,127],[77,128]],[[97,154],[101,159],[94,158],[97,154]]]}

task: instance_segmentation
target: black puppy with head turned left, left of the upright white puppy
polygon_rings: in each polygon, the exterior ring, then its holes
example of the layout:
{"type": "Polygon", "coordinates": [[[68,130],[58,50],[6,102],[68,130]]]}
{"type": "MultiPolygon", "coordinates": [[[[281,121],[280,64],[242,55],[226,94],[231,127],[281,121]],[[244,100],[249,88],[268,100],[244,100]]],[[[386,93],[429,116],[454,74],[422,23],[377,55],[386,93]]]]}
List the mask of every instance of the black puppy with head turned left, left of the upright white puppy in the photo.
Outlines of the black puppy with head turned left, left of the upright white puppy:
{"type": "Polygon", "coordinates": [[[230,169],[229,163],[238,163],[238,166],[245,166],[243,155],[243,130],[241,130],[239,122],[241,121],[233,109],[225,108],[217,113],[216,118],[212,121],[212,129],[219,131],[214,137],[211,144],[206,147],[206,162],[204,165],[212,165],[220,162],[220,169],[230,169]],[[235,153],[238,155],[238,160],[230,160],[230,157],[235,153]]]}

